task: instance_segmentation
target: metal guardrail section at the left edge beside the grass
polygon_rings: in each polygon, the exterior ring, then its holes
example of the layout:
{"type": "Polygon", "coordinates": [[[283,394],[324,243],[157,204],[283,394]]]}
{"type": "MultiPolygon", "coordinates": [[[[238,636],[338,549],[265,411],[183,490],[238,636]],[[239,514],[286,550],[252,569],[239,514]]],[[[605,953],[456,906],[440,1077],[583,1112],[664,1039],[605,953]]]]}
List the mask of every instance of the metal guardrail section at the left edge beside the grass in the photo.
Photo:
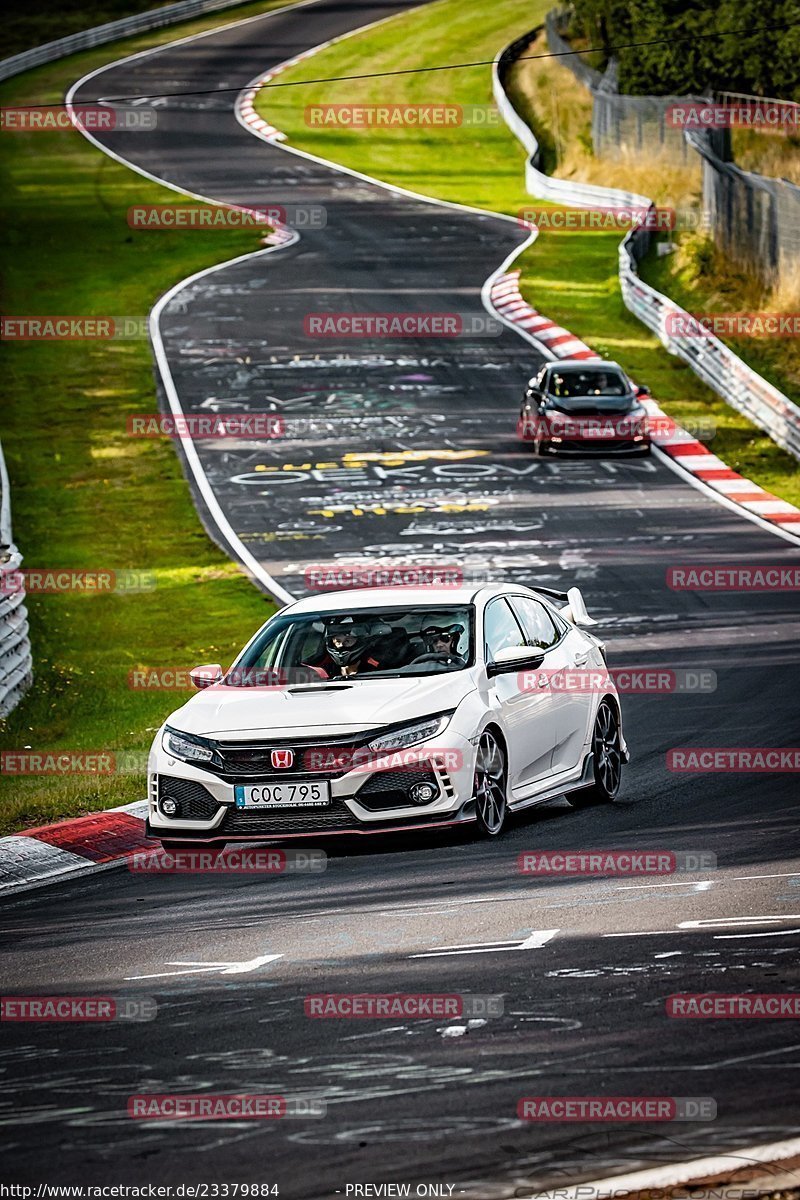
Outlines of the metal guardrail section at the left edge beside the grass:
{"type": "Polygon", "coordinates": [[[8,473],[0,446],[0,716],[19,703],[34,678],[25,593],[10,578],[22,562],[11,533],[8,473]]]}

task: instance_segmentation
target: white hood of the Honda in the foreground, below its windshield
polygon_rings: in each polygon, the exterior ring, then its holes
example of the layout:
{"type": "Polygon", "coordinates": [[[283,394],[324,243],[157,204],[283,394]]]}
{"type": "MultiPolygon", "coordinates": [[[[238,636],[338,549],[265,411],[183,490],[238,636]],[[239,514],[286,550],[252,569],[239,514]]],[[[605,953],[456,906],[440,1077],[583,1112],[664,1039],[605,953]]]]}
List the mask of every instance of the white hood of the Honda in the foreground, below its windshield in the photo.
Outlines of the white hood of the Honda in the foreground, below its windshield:
{"type": "Polygon", "coordinates": [[[179,708],[167,724],[185,733],[234,739],[329,737],[413,721],[456,708],[473,691],[471,672],[397,679],[353,679],[349,686],[207,688],[179,708]]]}

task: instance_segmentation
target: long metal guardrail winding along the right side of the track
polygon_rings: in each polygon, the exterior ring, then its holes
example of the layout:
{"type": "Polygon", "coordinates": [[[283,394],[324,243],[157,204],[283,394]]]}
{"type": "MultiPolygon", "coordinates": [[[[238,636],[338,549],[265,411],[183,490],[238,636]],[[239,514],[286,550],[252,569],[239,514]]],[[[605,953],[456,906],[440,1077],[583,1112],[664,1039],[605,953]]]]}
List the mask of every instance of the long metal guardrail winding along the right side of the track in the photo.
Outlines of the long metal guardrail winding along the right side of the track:
{"type": "MultiPolygon", "coordinates": [[[[492,91],[506,125],[519,138],[528,160],[525,162],[525,188],[531,196],[546,200],[570,204],[575,208],[644,208],[655,212],[655,205],[646,196],[625,192],[614,187],[554,179],[536,168],[539,142],[530,126],[523,120],[509,98],[504,79],[517,58],[541,26],[506,47],[492,68],[492,91]]],[[[656,292],[639,278],[638,264],[648,252],[652,233],[648,228],[631,229],[619,247],[619,282],[625,306],[651,329],[670,354],[682,359],[710,388],[747,416],[772,440],[800,458],[800,408],[788,396],[762,378],[752,367],[712,334],[697,329],[697,323],[684,308],[668,296],[656,292]],[[692,328],[688,336],[670,329],[676,324],[692,328]]]]}

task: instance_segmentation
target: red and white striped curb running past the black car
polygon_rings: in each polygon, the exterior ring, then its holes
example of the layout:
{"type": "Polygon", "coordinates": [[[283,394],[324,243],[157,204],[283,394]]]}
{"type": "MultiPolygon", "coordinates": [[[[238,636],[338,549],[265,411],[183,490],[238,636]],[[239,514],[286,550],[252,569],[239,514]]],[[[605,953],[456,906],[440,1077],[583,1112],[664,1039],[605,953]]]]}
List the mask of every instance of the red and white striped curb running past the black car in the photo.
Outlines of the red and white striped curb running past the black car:
{"type": "MultiPolygon", "coordinates": [[[[597,359],[585,342],[569,330],[536,312],[519,293],[519,270],[499,275],[492,284],[489,296],[498,313],[507,322],[524,329],[540,342],[551,359],[597,359]]],[[[644,402],[651,416],[657,418],[657,431],[652,442],[675,466],[700,484],[716,492],[728,503],[738,505],[752,516],[772,526],[800,533],[800,509],[780,496],[774,496],[745,479],[712,454],[706,445],[674,421],[655,400],[644,402]]]]}

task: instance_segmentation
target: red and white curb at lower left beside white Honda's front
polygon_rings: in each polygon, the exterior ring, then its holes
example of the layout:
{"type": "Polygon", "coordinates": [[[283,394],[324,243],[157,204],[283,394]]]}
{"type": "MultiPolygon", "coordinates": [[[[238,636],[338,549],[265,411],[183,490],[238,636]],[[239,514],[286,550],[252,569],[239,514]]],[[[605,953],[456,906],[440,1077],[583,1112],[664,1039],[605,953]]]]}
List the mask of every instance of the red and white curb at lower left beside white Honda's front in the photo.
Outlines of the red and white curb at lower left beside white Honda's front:
{"type": "Polygon", "coordinates": [[[154,850],[145,836],[146,800],[0,838],[0,896],[61,877],[101,870],[137,851],[154,850]]]}

